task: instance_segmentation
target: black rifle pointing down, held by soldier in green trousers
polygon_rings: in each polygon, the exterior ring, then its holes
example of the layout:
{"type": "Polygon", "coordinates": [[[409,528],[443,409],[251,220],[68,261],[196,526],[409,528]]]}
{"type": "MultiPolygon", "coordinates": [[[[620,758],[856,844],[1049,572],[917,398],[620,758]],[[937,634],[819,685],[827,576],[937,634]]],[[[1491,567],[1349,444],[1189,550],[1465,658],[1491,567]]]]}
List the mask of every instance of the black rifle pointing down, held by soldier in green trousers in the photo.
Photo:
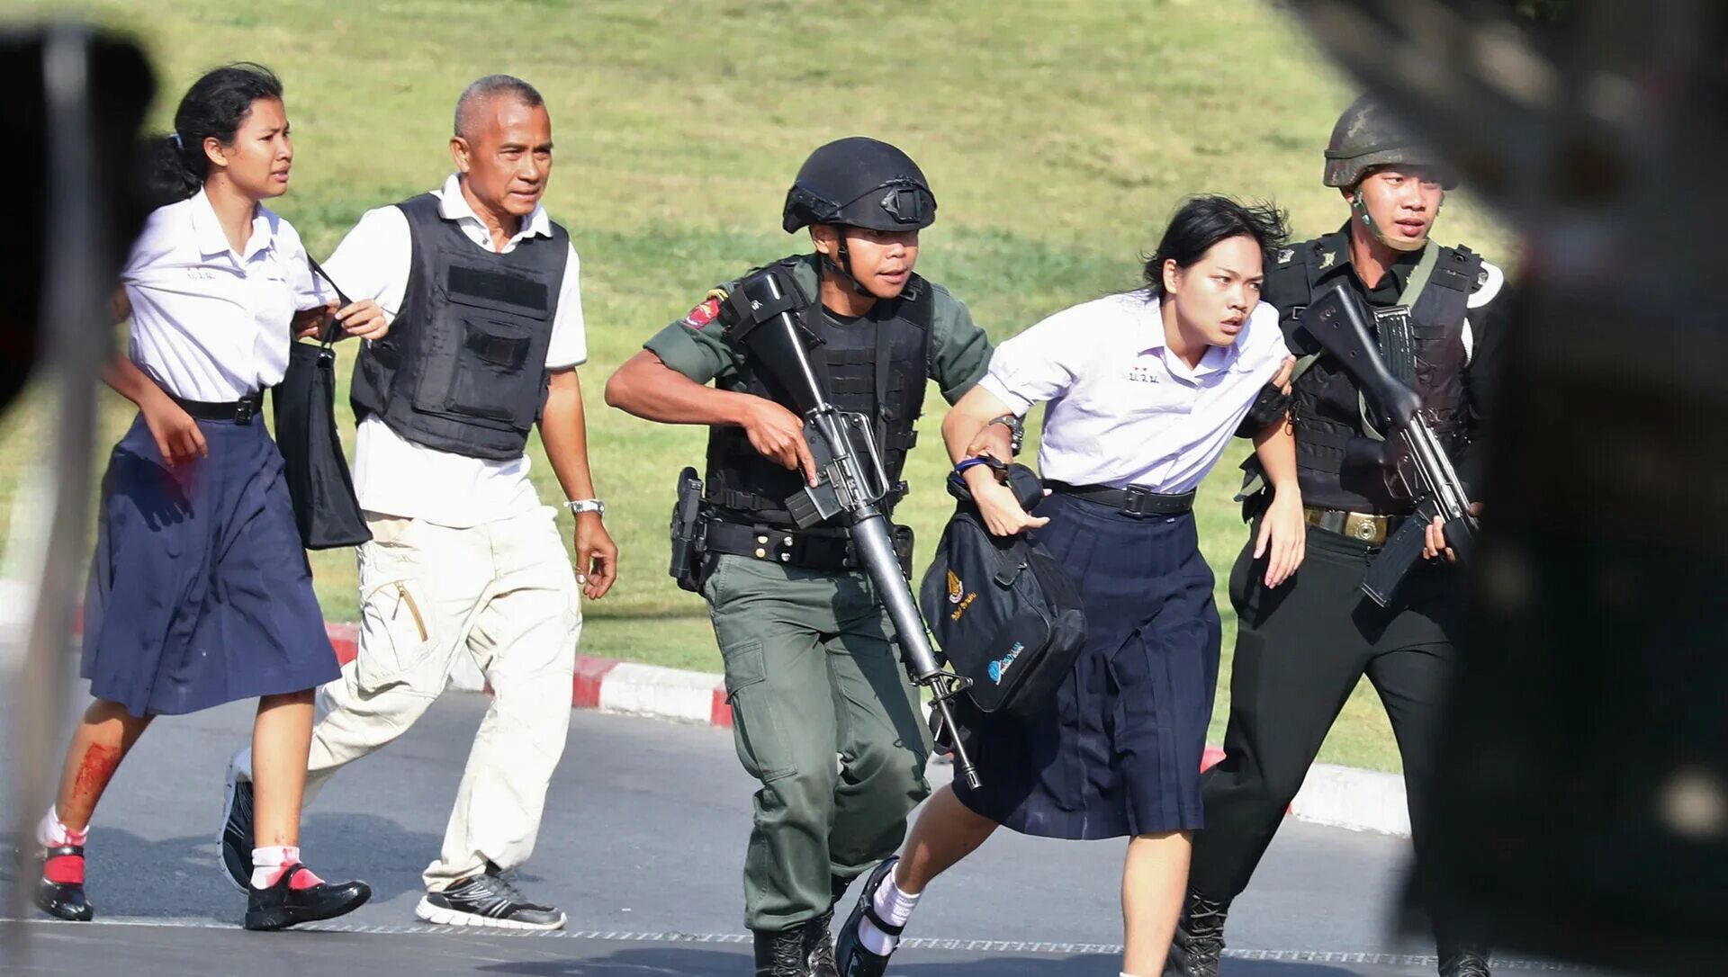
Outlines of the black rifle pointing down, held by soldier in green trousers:
{"type": "MultiPolygon", "coordinates": [[[[842,516],[859,563],[869,571],[876,594],[893,621],[895,644],[912,682],[931,690],[943,728],[956,728],[950,699],[971,680],[945,671],[937,661],[918,611],[912,587],[895,556],[888,516],[881,499],[892,488],[871,421],[864,414],[835,407],[810,366],[805,349],[816,338],[798,323],[802,293],[785,269],[772,266],[743,280],[727,300],[727,338],[741,342],[757,368],[791,397],[804,414],[804,433],[816,461],[817,483],[786,499],[786,511],[800,528],[842,516]]],[[[980,785],[978,768],[954,737],[954,766],[971,787],[980,785]]]]}

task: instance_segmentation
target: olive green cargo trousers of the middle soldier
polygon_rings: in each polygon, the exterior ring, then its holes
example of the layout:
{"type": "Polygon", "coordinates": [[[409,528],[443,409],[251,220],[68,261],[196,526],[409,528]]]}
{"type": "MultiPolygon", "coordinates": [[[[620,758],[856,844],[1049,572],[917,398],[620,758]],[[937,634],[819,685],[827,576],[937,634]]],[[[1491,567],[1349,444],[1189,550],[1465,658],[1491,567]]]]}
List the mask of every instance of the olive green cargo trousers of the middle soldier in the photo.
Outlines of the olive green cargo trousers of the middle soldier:
{"type": "Polygon", "coordinates": [[[745,925],[790,929],[900,848],[905,815],[930,794],[930,728],[862,571],[719,556],[703,596],[738,760],[762,782],[745,925]]]}

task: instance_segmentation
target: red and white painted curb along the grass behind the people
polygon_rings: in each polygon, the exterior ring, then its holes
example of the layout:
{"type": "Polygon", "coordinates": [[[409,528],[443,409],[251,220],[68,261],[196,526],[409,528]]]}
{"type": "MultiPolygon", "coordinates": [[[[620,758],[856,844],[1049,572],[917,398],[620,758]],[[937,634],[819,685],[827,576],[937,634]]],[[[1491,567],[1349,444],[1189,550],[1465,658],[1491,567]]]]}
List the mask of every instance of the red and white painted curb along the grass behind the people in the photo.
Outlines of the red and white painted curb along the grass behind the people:
{"type": "MultiPolygon", "coordinates": [[[[325,630],[342,665],[353,661],[359,651],[359,625],[328,623],[325,630]]],[[[461,666],[465,668],[451,675],[451,687],[484,690],[486,684],[473,663],[463,658],[461,666]]],[[[575,656],[570,706],[715,727],[733,725],[726,682],[719,675],[586,654],[575,656]]],[[[1210,770],[1222,760],[1223,749],[1208,746],[1201,770],[1210,770]]],[[[1291,801],[1289,815],[1317,825],[1410,837],[1403,777],[1396,773],[1315,763],[1296,799],[1291,801]]]]}

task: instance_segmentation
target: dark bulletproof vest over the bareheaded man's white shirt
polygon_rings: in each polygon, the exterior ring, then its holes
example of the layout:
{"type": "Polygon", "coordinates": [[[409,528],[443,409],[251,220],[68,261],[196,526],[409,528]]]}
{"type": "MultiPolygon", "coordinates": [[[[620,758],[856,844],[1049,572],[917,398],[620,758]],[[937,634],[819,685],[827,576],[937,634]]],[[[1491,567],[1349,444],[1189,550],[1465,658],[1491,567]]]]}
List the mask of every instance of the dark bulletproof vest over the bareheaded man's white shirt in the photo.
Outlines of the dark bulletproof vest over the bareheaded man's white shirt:
{"type": "Polygon", "coordinates": [[[361,347],[349,400],[406,440],[468,457],[522,457],[546,404],[546,347],[570,235],[525,236],[496,254],[425,193],[396,205],[413,261],[389,335],[361,347]]]}

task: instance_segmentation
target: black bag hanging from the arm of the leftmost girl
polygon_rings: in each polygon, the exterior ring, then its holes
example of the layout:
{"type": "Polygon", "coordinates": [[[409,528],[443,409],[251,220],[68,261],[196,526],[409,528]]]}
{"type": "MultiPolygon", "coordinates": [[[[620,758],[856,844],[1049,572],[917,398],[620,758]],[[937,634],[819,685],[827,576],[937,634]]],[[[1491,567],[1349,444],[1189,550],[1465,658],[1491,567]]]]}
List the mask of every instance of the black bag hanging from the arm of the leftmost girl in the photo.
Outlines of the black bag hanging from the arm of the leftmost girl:
{"type": "MultiPolygon", "coordinates": [[[[313,274],[330,281],[311,255],[306,255],[306,262],[313,274]]],[[[335,288],[337,300],[347,306],[342,288],[335,281],[330,287],[335,288]]],[[[289,345],[289,369],[282,383],[270,388],[282,473],[294,499],[294,525],[301,530],[306,549],[340,549],[372,539],[366,514],[354,495],[342,438],[335,430],[335,350],[330,344],[340,330],[340,323],[332,321],[320,342],[294,340],[289,345]]]]}

